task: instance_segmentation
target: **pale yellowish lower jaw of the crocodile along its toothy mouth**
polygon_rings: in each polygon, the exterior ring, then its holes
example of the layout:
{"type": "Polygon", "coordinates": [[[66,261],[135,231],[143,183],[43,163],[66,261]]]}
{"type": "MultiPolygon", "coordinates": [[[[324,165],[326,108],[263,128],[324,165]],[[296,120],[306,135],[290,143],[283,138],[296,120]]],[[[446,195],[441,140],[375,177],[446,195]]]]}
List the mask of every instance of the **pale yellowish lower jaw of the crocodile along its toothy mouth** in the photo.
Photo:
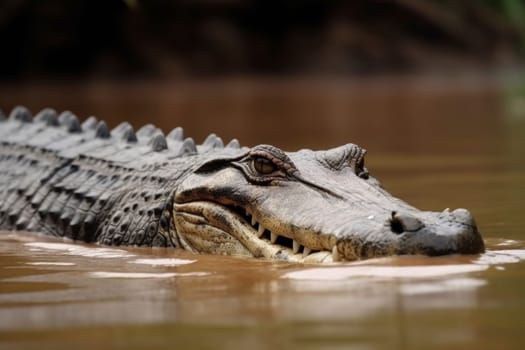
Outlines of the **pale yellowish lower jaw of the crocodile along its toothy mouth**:
{"type": "Polygon", "coordinates": [[[211,201],[174,205],[177,237],[195,253],[236,255],[293,262],[340,261],[337,246],[331,251],[299,244],[290,233],[264,227],[248,209],[211,201]]]}

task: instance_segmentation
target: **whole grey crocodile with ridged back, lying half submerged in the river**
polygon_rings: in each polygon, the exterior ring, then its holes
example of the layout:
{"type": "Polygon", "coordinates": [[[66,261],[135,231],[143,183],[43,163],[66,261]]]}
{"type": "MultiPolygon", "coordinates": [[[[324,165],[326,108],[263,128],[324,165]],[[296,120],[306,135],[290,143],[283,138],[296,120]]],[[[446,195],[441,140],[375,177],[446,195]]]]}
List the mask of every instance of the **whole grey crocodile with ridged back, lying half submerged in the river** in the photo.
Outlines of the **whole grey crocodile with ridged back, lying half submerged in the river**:
{"type": "Polygon", "coordinates": [[[296,262],[478,254],[466,209],[420,211],[365,167],[365,149],[285,152],[177,127],[110,130],[91,116],[0,113],[0,229],[103,245],[296,262]]]}

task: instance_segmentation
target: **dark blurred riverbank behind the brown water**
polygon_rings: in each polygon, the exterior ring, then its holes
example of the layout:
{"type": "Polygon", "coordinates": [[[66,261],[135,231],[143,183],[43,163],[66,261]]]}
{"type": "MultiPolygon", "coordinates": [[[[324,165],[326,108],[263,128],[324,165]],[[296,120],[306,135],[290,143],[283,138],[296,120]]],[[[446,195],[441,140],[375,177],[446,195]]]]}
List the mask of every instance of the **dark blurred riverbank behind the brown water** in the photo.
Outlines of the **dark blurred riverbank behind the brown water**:
{"type": "Polygon", "coordinates": [[[0,74],[180,78],[486,69],[517,62],[522,7],[520,0],[3,0],[0,74]]]}

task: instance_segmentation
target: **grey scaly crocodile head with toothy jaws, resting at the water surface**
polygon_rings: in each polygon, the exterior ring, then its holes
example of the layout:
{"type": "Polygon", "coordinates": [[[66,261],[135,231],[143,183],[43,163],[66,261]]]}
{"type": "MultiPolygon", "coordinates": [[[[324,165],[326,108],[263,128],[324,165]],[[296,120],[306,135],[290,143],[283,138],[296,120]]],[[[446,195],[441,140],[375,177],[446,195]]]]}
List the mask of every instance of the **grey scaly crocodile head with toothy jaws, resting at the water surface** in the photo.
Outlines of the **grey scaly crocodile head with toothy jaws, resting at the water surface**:
{"type": "Polygon", "coordinates": [[[304,262],[483,252],[466,209],[420,211],[393,197],[364,154],[259,145],[209,160],[174,195],[177,239],[194,252],[304,262]]]}

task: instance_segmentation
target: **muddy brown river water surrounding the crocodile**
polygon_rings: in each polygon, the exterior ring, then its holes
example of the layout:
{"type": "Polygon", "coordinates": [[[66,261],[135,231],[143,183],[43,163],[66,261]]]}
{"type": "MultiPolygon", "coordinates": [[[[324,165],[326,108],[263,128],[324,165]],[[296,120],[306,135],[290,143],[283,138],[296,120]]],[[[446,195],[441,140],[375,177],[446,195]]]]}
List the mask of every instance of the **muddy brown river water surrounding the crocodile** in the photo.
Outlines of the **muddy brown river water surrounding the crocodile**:
{"type": "Polygon", "coordinates": [[[477,77],[0,86],[110,126],[285,149],[355,142],[423,209],[469,208],[487,252],[298,265],[0,234],[0,349],[523,349],[523,100],[477,77]]]}

